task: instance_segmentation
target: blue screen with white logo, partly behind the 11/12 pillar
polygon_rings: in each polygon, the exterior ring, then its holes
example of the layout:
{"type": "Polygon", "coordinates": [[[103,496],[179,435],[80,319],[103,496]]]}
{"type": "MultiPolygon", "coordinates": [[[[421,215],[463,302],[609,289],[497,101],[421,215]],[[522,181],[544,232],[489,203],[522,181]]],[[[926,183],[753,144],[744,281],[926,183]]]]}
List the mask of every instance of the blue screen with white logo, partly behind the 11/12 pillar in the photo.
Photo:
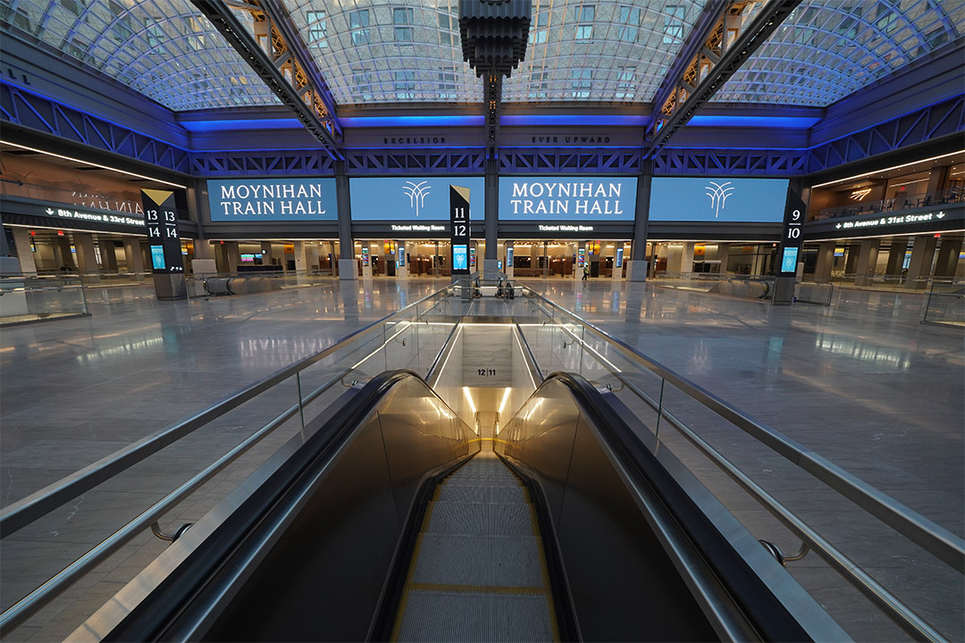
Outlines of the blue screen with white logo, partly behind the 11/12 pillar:
{"type": "Polygon", "coordinates": [[[449,186],[469,188],[469,217],[485,218],[482,176],[379,176],[348,179],[352,221],[449,221],[449,186]]]}

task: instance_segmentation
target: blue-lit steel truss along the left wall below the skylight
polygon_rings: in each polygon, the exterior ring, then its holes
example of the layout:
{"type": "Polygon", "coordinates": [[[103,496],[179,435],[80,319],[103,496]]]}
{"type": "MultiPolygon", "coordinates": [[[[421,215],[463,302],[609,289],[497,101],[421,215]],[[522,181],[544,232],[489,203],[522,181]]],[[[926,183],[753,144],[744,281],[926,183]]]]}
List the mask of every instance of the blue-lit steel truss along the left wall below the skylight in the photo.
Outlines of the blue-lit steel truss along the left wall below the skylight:
{"type": "MultiPolygon", "coordinates": [[[[190,153],[131,129],[0,83],[0,118],[84,146],[188,173],[190,153]]],[[[2,124],[2,123],[0,123],[2,124]]]]}

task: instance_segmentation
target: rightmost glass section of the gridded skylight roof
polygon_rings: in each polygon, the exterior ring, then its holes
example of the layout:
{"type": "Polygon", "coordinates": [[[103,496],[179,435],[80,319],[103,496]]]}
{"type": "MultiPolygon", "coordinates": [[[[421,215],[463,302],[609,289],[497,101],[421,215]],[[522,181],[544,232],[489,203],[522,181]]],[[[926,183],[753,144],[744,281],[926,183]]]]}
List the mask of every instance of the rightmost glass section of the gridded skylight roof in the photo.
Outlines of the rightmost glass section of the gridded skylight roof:
{"type": "Polygon", "coordinates": [[[965,0],[805,0],[712,100],[825,107],[965,28],[965,0]]]}

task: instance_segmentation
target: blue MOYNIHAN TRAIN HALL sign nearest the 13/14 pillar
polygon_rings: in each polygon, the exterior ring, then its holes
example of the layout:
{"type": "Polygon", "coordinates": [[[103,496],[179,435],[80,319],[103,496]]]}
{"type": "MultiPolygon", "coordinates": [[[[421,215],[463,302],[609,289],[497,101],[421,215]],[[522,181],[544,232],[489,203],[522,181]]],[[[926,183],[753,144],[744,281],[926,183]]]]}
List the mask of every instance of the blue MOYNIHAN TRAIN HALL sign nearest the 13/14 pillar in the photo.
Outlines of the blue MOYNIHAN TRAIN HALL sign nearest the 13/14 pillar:
{"type": "Polygon", "coordinates": [[[334,178],[207,181],[211,221],[338,221],[334,178]]]}

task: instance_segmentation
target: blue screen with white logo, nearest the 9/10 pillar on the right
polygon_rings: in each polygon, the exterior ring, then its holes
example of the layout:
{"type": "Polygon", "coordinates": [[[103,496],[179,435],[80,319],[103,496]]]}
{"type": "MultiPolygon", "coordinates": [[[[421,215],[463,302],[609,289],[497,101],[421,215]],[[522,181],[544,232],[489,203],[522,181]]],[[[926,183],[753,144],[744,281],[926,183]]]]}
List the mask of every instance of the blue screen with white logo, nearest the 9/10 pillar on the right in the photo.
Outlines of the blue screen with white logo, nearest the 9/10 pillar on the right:
{"type": "Polygon", "coordinates": [[[786,200],[786,178],[655,176],[649,220],[778,223],[786,200]]]}

